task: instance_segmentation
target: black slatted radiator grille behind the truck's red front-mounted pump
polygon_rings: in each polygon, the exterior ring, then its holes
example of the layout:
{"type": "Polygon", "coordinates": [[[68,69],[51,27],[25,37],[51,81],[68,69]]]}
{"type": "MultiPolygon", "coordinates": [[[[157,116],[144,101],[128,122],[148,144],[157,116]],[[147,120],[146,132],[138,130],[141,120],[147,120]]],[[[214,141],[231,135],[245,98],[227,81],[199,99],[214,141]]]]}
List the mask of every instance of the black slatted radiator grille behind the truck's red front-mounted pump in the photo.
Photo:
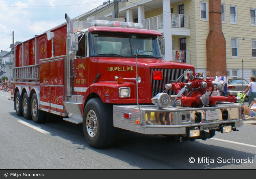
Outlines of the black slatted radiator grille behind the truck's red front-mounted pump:
{"type": "MultiPolygon", "coordinates": [[[[174,83],[176,82],[183,82],[187,83],[188,81],[184,79],[184,71],[193,69],[151,69],[151,90],[152,90],[152,97],[156,96],[158,93],[162,93],[165,90],[165,84],[167,83],[174,83]],[[163,80],[153,80],[152,72],[153,71],[163,71],[163,80]],[[180,78],[182,76],[182,78],[180,78]]],[[[166,92],[169,95],[176,95],[173,90],[168,90],[166,92]]]]}

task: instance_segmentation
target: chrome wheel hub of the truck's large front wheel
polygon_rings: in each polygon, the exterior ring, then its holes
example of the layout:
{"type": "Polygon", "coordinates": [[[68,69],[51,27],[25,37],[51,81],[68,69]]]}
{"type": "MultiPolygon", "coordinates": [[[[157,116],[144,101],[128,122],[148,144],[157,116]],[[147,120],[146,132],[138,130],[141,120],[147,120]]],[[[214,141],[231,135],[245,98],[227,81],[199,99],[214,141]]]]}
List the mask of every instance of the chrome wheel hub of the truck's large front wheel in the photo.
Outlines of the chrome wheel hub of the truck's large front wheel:
{"type": "Polygon", "coordinates": [[[94,138],[98,131],[98,119],[93,110],[90,110],[86,116],[86,129],[91,138],[94,138]]]}

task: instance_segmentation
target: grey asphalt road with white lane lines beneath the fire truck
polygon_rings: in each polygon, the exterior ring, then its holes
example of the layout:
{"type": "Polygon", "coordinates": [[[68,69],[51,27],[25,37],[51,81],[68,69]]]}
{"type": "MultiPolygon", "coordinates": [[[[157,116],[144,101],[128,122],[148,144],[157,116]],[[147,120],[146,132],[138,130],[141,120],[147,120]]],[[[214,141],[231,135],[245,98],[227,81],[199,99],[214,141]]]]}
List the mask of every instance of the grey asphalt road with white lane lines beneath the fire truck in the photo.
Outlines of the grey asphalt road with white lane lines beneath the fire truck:
{"type": "Polygon", "coordinates": [[[0,91],[0,169],[256,169],[256,121],[195,142],[120,132],[113,147],[93,149],[82,125],[36,124],[18,117],[9,97],[0,91]]]}

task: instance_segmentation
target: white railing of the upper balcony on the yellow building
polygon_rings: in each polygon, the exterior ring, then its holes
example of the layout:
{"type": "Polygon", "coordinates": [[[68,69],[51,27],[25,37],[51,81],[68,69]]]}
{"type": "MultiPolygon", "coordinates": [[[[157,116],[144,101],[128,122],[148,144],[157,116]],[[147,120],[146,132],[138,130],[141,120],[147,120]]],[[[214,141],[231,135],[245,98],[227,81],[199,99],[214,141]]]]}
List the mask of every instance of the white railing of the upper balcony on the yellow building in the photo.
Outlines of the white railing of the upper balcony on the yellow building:
{"type": "MultiPolygon", "coordinates": [[[[189,15],[171,14],[171,27],[189,28],[189,15]]],[[[163,14],[143,20],[143,28],[157,30],[163,28],[163,14]]]]}

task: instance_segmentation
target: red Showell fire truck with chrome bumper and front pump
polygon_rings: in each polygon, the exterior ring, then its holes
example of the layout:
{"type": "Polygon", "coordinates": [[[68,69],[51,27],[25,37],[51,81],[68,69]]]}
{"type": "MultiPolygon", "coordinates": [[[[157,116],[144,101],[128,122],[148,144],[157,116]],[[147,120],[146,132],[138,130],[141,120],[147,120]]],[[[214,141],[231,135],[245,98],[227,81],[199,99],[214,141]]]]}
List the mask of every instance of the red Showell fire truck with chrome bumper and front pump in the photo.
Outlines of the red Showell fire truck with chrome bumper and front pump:
{"type": "Polygon", "coordinates": [[[95,148],[113,144],[117,128],[182,142],[243,125],[236,97],[212,91],[223,81],[163,60],[161,33],[139,23],[65,18],[16,46],[12,98],[18,116],[42,123],[52,113],[82,123],[95,148]]]}

